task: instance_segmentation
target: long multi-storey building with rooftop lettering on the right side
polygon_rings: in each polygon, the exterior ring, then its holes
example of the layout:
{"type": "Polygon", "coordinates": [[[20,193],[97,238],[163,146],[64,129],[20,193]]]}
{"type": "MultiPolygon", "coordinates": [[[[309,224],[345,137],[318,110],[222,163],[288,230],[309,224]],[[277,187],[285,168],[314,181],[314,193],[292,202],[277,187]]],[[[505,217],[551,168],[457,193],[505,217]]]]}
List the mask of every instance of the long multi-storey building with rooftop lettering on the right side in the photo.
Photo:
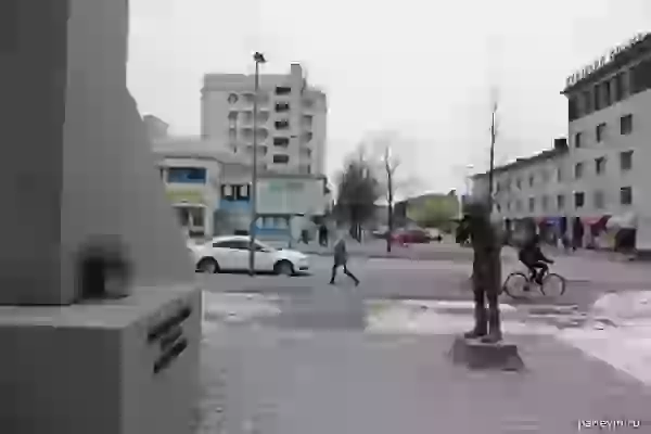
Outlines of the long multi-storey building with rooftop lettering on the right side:
{"type": "MultiPolygon", "coordinates": [[[[572,74],[561,93],[569,140],[497,167],[494,212],[510,228],[535,221],[583,245],[616,220],[638,251],[651,251],[651,35],[572,74]]],[[[488,194],[488,174],[473,180],[473,194],[488,194]]]]}

